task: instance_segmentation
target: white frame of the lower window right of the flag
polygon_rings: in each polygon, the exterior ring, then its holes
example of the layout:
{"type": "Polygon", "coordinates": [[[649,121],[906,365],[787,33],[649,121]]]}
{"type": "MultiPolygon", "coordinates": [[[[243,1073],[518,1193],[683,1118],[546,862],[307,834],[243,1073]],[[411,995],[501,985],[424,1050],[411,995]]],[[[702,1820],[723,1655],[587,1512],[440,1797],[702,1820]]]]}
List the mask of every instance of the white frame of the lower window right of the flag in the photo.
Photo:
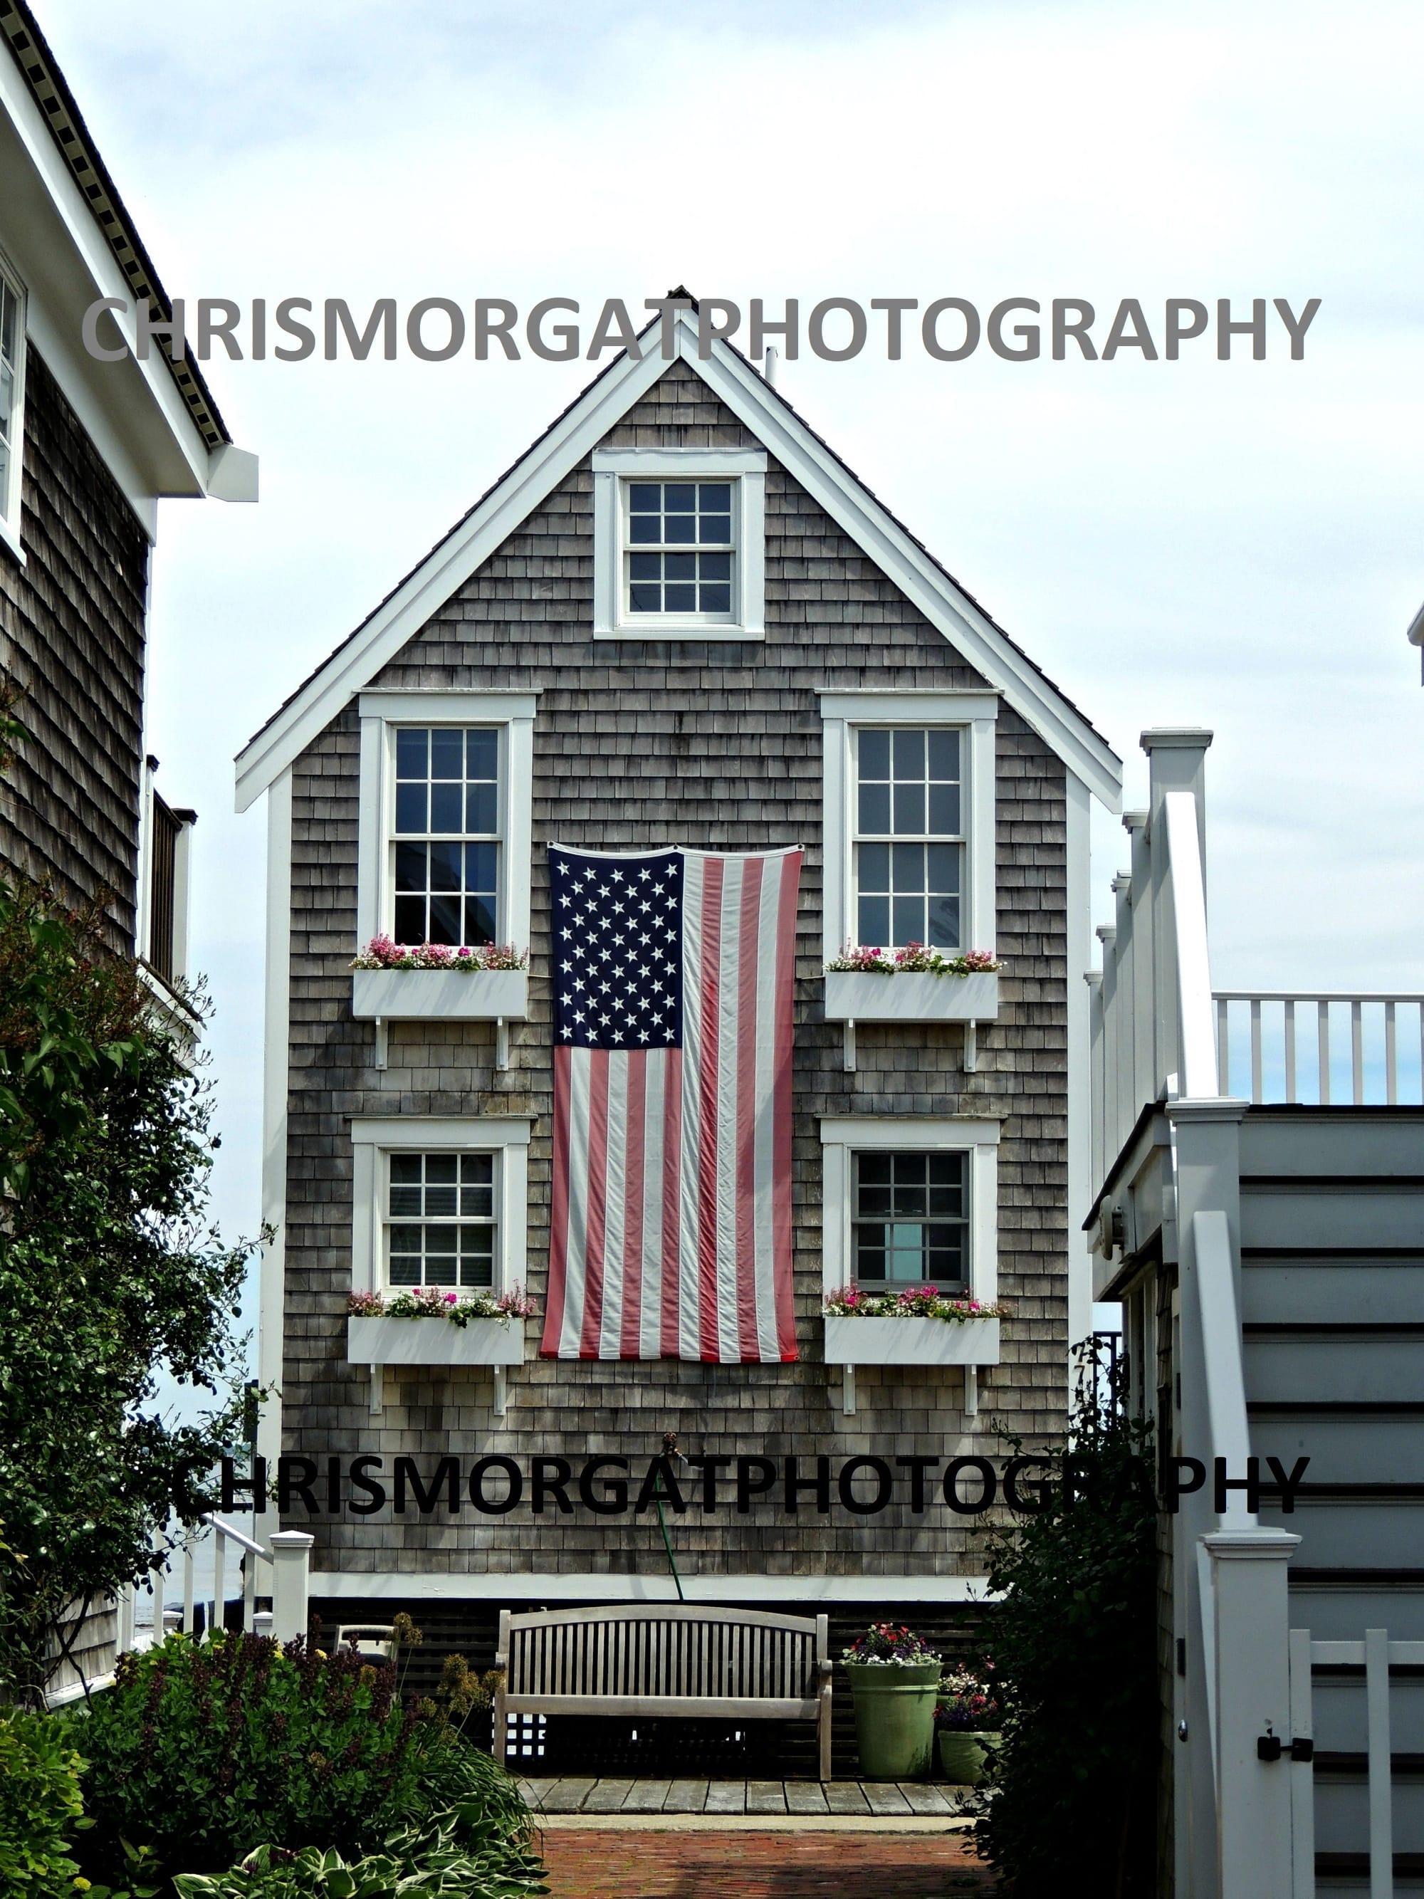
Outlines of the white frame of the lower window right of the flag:
{"type": "MultiPolygon", "coordinates": [[[[1001,1122],[968,1115],[938,1120],[908,1115],[824,1115],[820,1120],[820,1282],[839,1291],[853,1272],[851,1156],[870,1149],[904,1155],[966,1153],[968,1297],[999,1297],[999,1136],[1001,1122]]],[[[887,1288],[889,1289],[889,1288],[887,1288]]]]}

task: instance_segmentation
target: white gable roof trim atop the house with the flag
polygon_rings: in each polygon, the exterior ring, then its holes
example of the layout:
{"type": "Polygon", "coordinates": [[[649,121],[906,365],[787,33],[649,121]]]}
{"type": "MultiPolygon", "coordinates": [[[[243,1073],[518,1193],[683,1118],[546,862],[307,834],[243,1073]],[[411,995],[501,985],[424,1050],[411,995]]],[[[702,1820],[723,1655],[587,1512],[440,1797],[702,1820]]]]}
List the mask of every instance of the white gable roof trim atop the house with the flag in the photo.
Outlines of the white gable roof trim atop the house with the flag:
{"type": "MultiPolygon", "coordinates": [[[[680,294],[680,292],[672,292],[680,294]]],[[[647,336],[653,325],[642,334],[647,336]]],[[[775,456],[832,520],[879,566],[1004,703],[1116,811],[1122,761],[1078,708],[1048,680],[921,541],[875,499],[841,458],[739,351],[712,344],[697,355],[697,323],[676,319],[678,357],[775,456]]],[[[245,811],[342,706],[458,592],[564,477],[590,454],[665,374],[661,349],[642,361],[619,355],[524,450],[425,558],[336,651],[283,703],[237,754],[237,809],[245,811]]]]}

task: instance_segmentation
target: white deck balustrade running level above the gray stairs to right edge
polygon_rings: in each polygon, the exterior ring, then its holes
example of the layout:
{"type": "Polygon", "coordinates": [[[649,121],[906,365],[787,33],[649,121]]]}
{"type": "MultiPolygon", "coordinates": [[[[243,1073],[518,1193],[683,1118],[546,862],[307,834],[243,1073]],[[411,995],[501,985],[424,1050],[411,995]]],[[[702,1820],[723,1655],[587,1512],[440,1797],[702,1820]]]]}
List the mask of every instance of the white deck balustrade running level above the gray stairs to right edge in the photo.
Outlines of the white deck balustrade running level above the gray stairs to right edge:
{"type": "Polygon", "coordinates": [[[1232,1092],[1240,1035],[1251,1056],[1249,1101],[1320,1107],[1418,1107],[1424,1101],[1424,995],[1217,989],[1213,1001],[1223,1094],[1232,1092]],[[1331,1069],[1346,1033],[1350,1081],[1342,1094],[1331,1069]]]}

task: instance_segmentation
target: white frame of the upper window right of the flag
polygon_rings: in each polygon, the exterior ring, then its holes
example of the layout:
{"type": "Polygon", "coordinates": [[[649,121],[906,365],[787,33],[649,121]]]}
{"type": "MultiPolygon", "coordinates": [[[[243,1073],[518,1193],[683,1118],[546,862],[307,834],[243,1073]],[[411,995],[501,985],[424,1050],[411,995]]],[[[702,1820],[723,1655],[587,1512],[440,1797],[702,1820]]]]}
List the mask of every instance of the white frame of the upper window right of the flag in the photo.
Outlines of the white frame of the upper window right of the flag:
{"type": "MultiPolygon", "coordinates": [[[[963,950],[995,950],[995,720],[1001,697],[980,687],[822,691],[824,733],[824,961],[856,942],[854,921],[854,733],[881,727],[957,727],[961,739],[963,950]]],[[[902,948],[902,946],[900,946],[902,948]]]]}

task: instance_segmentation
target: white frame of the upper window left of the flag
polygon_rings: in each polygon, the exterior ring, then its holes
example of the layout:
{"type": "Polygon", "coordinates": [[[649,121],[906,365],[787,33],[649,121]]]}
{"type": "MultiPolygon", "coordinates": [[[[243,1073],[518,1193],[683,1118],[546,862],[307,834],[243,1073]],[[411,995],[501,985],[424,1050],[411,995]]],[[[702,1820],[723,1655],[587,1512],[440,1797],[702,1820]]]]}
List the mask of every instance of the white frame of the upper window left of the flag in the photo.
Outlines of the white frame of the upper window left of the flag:
{"type": "Polygon", "coordinates": [[[537,693],[361,693],[357,948],[395,919],[395,729],[494,725],[499,731],[499,893],[496,942],[530,948],[534,716],[537,693]]]}

